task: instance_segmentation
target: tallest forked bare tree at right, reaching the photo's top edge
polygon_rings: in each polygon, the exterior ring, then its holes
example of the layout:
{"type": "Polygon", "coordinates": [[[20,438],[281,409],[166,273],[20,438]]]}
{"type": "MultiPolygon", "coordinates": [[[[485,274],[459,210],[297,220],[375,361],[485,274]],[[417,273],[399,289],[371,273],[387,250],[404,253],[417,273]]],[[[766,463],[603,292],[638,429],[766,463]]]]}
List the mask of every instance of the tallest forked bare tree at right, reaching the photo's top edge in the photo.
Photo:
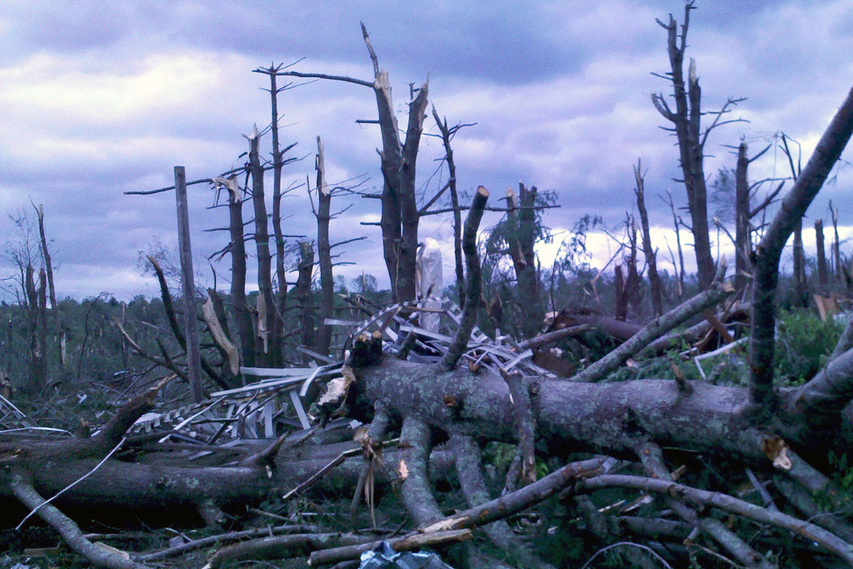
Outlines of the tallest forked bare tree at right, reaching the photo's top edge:
{"type": "Polygon", "coordinates": [[[676,110],[670,109],[662,93],[653,93],[652,102],[658,112],[673,124],[667,129],[675,132],[678,138],[678,148],[682,166],[683,183],[687,189],[688,209],[690,211],[691,229],[693,231],[693,247],[696,250],[696,265],[699,272],[699,287],[706,288],[714,276],[714,258],[711,255],[711,237],[708,232],[708,192],[705,187],[704,152],[705,142],[717,126],[732,121],[720,121],[728,107],[740,102],[740,99],[729,99],[722,109],[713,112],[715,115],[711,125],[701,126],[702,90],[699,87],[699,76],[696,74],[696,61],[691,59],[688,67],[687,83],[684,81],[684,52],[687,49],[688,26],[690,11],[695,9],[693,2],[684,5],[684,21],[682,32],[678,33],[678,23],[670,14],[668,23],[657,20],[667,32],[667,51],[670,56],[670,73],[666,78],[672,83],[676,100],[676,110]]]}

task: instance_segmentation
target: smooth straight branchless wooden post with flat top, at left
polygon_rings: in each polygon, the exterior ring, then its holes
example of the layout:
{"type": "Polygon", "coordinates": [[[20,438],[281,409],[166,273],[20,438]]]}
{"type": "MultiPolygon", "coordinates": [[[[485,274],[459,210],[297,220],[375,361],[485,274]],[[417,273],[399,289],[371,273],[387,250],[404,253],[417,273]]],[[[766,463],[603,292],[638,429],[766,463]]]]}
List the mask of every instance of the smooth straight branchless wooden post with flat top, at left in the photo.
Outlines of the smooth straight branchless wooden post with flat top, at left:
{"type": "Polygon", "coordinates": [[[183,291],[183,328],[187,336],[187,374],[194,403],[204,399],[201,387],[201,353],[199,328],[195,314],[195,282],[193,247],[189,242],[189,206],[187,205],[187,174],[183,166],[175,166],[175,200],[177,201],[177,245],[181,252],[181,287],[183,291]]]}

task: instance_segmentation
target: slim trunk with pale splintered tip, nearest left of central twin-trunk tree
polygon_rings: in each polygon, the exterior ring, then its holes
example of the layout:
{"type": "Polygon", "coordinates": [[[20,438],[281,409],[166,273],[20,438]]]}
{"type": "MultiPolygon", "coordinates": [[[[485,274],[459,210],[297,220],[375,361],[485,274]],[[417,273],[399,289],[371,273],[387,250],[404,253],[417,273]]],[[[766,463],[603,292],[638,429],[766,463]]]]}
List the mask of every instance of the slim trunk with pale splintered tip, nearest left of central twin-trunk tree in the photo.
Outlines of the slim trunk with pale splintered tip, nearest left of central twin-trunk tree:
{"type": "Polygon", "coordinates": [[[332,274],[332,245],[328,237],[328,223],[331,219],[332,191],[326,183],[326,166],[323,156],[323,145],[317,136],[316,157],[316,190],[317,190],[317,257],[320,264],[320,310],[317,322],[316,351],[323,356],[328,355],[332,341],[332,327],[324,322],[332,316],[334,306],[334,275],[332,274]]]}

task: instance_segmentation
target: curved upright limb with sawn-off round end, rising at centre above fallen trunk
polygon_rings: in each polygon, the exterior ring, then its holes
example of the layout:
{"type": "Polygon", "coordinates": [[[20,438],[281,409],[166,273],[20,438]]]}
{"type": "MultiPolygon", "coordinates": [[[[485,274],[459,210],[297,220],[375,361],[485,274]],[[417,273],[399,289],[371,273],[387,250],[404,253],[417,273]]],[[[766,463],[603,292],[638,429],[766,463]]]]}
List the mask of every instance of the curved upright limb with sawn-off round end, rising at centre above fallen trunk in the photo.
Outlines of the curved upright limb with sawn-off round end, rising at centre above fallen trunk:
{"type": "Polygon", "coordinates": [[[444,371],[450,371],[456,367],[456,363],[467,348],[474,324],[477,323],[481,288],[477,229],[479,229],[480,219],[483,218],[483,210],[488,200],[489,190],[479,186],[477,193],[474,194],[471,210],[465,219],[465,230],[462,232],[462,251],[465,252],[465,266],[467,267],[465,306],[462,309],[462,319],[459,328],[456,330],[456,335],[450,342],[450,346],[448,346],[441,361],[437,364],[438,368],[444,371]]]}

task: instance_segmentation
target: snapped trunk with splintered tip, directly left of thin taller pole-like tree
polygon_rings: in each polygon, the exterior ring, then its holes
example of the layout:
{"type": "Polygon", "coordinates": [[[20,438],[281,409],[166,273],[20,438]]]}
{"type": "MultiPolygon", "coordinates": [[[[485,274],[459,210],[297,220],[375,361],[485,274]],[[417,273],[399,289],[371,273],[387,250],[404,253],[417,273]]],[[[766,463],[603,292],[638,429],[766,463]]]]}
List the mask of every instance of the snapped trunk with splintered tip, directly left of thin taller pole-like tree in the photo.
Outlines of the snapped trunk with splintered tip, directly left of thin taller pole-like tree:
{"type": "Polygon", "coordinates": [[[249,168],[252,172],[252,204],[255,209],[255,246],[258,250],[258,331],[255,337],[255,358],[257,363],[272,368],[281,364],[281,339],[273,334],[276,305],[272,292],[270,232],[267,229],[264,200],[264,167],[258,155],[258,128],[256,127],[247,138],[250,143],[249,168]]]}

